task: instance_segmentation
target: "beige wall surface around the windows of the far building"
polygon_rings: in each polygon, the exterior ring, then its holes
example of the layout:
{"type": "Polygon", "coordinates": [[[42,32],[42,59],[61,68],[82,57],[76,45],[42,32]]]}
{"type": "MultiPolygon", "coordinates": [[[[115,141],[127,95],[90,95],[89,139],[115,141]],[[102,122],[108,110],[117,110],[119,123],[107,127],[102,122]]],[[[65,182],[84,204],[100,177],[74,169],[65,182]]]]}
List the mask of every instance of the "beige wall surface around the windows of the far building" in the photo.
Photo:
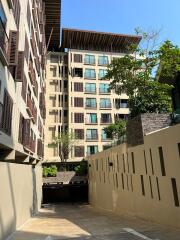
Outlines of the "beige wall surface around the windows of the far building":
{"type": "MultiPolygon", "coordinates": [[[[54,135],[58,135],[58,127],[60,126],[67,126],[69,128],[69,131],[74,133],[75,129],[83,129],[84,130],[84,139],[78,140],[76,142],[76,146],[83,146],[84,147],[84,156],[88,154],[88,146],[97,146],[98,151],[103,150],[103,146],[109,144],[111,141],[109,139],[102,139],[102,129],[104,129],[106,126],[109,125],[109,123],[103,124],[101,123],[101,114],[106,113],[110,114],[112,118],[112,122],[115,121],[115,115],[121,114],[121,115],[128,115],[129,109],[120,107],[119,109],[116,108],[115,99],[123,99],[127,100],[128,97],[126,94],[122,94],[121,96],[117,95],[114,91],[111,91],[110,93],[100,93],[99,92],[99,86],[101,83],[109,84],[109,80],[100,80],[99,79],[99,70],[100,69],[107,69],[106,65],[99,65],[98,64],[98,57],[99,56],[107,56],[109,63],[112,61],[113,58],[121,57],[123,54],[117,54],[117,53],[105,53],[105,52],[95,52],[95,51],[82,51],[82,50],[74,50],[69,49],[68,53],[51,53],[48,54],[47,59],[47,78],[46,78],[46,102],[47,102],[47,119],[46,119],[46,128],[45,128],[45,160],[46,161],[60,161],[60,158],[58,157],[58,150],[53,149],[52,147],[48,147],[48,144],[52,142],[52,128],[55,129],[54,135]],[[59,67],[67,66],[64,65],[63,61],[54,62],[53,56],[59,56],[60,58],[63,58],[63,55],[68,54],[68,76],[62,77],[59,75],[59,67]],[[82,63],[74,62],[74,55],[75,54],[81,54],[82,56],[82,63]],[[85,56],[86,55],[93,55],[95,57],[95,64],[85,64],[85,56]],[[52,58],[52,60],[51,60],[52,58]],[[53,77],[53,71],[52,68],[56,68],[56,73],[53,77]],[[75,68],[81,68],[83,71],[82,77],[74,76],[74,69],[75,68]],[[96,73],[95,79],[87,79],[85,77],[85,70],[86,69],[94,69],[96,73]],[[61,89],[54,91],[55,86],[51,85],[50,82],[53,80],[57,80],[57,82],[61,81],[63,84],[63,80],[68,80],[68,90],[64,90],[63,87],[61,89]],[[74,83],[83,83],[83,91],[77,92],[74,90],[74,83]],[[86,83],[95,83],[96,84],[96,94],[94,93],[86,93],[85,92],[85,84],[86,83]],[[68,107],[64,107],[64,105],[61,105],[61,107],[58,107],[58,96],[59,95],[66,95],[68,94],[68,107]],[[55,98],[55,102],[53,104],[52,98],[55,98]],[[79,97],[83,98],[83,107],[75,107],[74,106],[74,98],[79,97]],[[97,107],[94,108],[87,108],[86,107],[86,99],[87,98],[95,98],[97,107]],[[100,99],[109,99],[111,102],[110,108],[100,108],[100,99]],[[63,121],[63,119],[59,119],[59,111],[61,111],[61,115],[63,115],[64,109],[68,110],[68,118],[63,121]],[[54,111],[54,113],[52,112],[54,111]],[[83,123],[76,123],[74,119],[74,113],[83,113],[84,114],[84,122],[83,123]],[[87,123],[87,114],[88,113],[95,113],[97,114],[97,123],[96,124],[90,124],[87,123]],[[61,121],[61,122],[60,122],[61,121]],[[98,138],[95,140],[87,140],[87,129],[96,129],[98,138]]],[[[61,85],[62,85],[61,84],[61,85]]],[[[67,105],[66,105],[67,106],[67,105]]],[[[60,132],[59,132],[60,133],[60,132]]],[[[75,156],[74,149],[71,152],[69,156],[69,161],[79,161],[82,160],[83,156],[75,156]]]]}

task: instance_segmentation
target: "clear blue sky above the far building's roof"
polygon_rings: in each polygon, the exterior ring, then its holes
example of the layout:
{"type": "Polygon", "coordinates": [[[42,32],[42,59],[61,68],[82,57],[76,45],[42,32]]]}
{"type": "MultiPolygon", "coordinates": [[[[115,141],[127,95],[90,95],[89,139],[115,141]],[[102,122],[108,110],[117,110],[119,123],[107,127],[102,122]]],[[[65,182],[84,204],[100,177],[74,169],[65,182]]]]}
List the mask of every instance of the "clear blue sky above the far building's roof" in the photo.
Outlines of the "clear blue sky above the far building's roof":
{"type": "Polygon", "coordinates": [[[159,30],[180,46],[180,0],[62,0],[62,27],[134,34],[159,30]]]}

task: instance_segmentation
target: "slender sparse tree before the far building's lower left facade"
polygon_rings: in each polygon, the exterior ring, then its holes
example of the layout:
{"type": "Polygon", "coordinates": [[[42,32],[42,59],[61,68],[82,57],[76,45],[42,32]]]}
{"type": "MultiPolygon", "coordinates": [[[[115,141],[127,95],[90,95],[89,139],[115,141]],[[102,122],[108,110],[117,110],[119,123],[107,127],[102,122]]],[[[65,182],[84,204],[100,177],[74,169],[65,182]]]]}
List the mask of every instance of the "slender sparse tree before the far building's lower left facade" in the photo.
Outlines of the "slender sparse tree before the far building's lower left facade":
{"type": "Polygon", "coordinates": [[[53,142],[50,144],[50,147],[58,148],[61,162],[66,162],[76,143],[77,140],[74,134],[66,131],[55,137],[53,142]]]}

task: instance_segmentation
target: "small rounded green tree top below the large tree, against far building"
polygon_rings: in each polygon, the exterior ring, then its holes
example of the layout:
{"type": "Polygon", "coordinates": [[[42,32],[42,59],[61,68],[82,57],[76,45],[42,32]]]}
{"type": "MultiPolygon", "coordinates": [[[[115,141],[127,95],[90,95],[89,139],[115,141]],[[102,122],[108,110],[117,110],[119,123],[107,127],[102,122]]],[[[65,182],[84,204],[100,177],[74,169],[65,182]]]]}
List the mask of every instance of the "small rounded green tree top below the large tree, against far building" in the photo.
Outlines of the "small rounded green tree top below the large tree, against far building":
{"type": "Polygon", "coordinates": [[[104,128],[105,133],[111,139],[120,139],[126,133],[126,121],[119,120],[104,128]]]}

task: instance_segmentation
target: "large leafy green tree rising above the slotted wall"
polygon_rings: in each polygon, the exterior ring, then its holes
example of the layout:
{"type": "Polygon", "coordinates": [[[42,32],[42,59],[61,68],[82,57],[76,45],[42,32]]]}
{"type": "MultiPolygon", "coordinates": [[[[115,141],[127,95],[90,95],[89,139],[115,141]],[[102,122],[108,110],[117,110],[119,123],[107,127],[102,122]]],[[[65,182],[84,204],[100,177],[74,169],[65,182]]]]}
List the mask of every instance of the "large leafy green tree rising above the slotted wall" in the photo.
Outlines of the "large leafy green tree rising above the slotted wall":
{"type": "Polygon", "coordinates": [[[112,79],[110,88],[117,94],[129,96],[131,117],[140,113],[171,112],[172,86],[159,83],[155,78],[162,56],[161,48],[155,48],[158,32],[144,33],[138,29],[136,33],[141,34],[143,44],[139,47],[132,45],[133,54],[114,59],[105,78],[112,79]]]}

